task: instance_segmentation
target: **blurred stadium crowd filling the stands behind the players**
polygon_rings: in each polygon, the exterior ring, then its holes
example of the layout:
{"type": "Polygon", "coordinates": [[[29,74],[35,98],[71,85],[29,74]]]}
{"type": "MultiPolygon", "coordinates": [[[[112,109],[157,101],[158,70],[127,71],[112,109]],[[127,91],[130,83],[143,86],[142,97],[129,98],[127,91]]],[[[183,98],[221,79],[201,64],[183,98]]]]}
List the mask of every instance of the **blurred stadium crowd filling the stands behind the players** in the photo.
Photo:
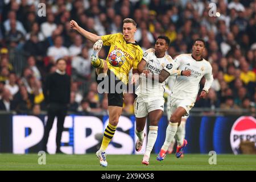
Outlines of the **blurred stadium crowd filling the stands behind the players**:
{"type": "MultiPolygon", "coordinates": [[[[212,64],[214,82],[207,98],[195,107],[255,113],[256,0],[5,0],[0,14],[0,110],[46,110],[46,75],[55,72],[55,61],[64,57],[72,77],[69,112],[107,114],[108,99],[98,94],[90,64],[93,44],[72,30],[69,20],[106,35],[122,32],[122,20],[133,18],[135,40],[143,51],[154,47],[159,35],[170,38],[168,54],[173,58],[191,52],[196,38],[205,40],[204,58],[212,64]],[[210,2],[217,5],[213,14],[210,2]],[[39,3],[45,3],[46,16],[39,16],[39,3]]],[[[104,47],[100,57],[107,53],[104,47]]],[[[133,114],[133,102],[134,94],[125,94],[123,113],[133,114]]]]}

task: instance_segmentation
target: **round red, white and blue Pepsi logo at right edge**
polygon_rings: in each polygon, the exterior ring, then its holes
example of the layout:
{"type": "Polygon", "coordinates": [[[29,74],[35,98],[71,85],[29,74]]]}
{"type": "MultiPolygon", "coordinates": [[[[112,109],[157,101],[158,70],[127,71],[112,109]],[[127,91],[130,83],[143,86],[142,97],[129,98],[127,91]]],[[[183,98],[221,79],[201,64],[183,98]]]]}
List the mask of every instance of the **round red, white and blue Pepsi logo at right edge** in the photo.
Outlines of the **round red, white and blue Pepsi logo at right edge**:
{"type": "Polygon", "coordinates": [[[245,140],[256,144],[256,119],[251,116],[238,118],[232,126],[230,144],[234,154],[239,154],[240,143],[245,140]]]}

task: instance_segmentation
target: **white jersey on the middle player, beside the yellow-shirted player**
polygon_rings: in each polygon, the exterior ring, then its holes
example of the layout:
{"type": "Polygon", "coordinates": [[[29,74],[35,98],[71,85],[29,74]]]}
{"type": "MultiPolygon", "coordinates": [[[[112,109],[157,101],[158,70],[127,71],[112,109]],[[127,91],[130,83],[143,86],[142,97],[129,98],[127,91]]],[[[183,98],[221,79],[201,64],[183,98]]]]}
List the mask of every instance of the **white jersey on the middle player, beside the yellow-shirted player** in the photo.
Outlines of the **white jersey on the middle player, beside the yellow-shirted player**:
{"type": "MultiPolygon", "coordinates": [[[[160,58],[156,57],[154,48],[147,49],[143,53],[143,60],[147,62],[146,69],[154,75],[159,75],[163,68],[168,67],[168,65],[174,62],[170,55],[164,55],[164,57],[160,58]]],[[[135,93],[138,96],[144,96],[144,98],[163,97],[164,85],[166,85],[166,81],[160,83],[158,80],[151,80],[151,78],[146,78],[144,74],[141,74],[139,86],[135,93]]]]}

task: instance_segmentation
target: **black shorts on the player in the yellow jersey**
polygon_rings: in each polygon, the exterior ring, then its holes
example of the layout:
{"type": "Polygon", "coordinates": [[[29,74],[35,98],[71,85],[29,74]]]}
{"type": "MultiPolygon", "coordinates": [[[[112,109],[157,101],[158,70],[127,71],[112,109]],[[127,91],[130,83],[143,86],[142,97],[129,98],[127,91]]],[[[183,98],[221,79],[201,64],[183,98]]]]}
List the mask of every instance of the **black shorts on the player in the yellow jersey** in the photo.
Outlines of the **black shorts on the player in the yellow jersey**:
{"type": "Polygon", "coordinates": [[[103,78],[102,80],[98,80],[96,73],[97,83],[102,85],[104,93],[108,93],[108,105],[123,107],[123,90],[126,88],[126,85],[110,70],[108,70],[107,76],[108,79],[103,78]],[[102,81],[104,81],[104,84],[102,84],[102,81]]]}

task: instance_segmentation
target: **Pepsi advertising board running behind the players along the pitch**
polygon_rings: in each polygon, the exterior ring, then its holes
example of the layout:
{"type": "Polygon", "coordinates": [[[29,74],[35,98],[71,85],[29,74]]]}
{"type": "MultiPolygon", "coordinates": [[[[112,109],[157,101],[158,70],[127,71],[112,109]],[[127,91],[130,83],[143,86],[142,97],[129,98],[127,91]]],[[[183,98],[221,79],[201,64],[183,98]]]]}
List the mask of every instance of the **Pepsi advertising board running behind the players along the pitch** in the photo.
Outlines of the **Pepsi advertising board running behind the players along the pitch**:
{"type": "MultiPolygon", "coordinates": [[[[42,150],[42,139],[46,115],[0,115],[0,152],[28,154],[42,150]]],[[[56,121],[55,121],[56,122],[56,121]]],[[[65,154],[87,154],[97,151],[101,136],[108,124],[108,116],[68,115],[64,122],[61,137],[61,151],[65,154]]],[[[152,152],[160,151],[166,137],[168,120],[164,115],[159,121],[158,138],[152,152]]],[[[138,153],[134,146],[135,116],[122,116],[117,131],[106,152],[108,154],[143,154],[147,140],[138,153]]],[[[256,119],[251,116],[193,116],[186,122],[185,138],[188,145],[185,153],[240,154],[239,145],[243,140],[256,142],[256,119]]],[[[145,126],[147,134],[148,126],[145,126]]],[[[49,135],[47,148],[49,154],[55,154],[56,123],[49,135]]]]}

